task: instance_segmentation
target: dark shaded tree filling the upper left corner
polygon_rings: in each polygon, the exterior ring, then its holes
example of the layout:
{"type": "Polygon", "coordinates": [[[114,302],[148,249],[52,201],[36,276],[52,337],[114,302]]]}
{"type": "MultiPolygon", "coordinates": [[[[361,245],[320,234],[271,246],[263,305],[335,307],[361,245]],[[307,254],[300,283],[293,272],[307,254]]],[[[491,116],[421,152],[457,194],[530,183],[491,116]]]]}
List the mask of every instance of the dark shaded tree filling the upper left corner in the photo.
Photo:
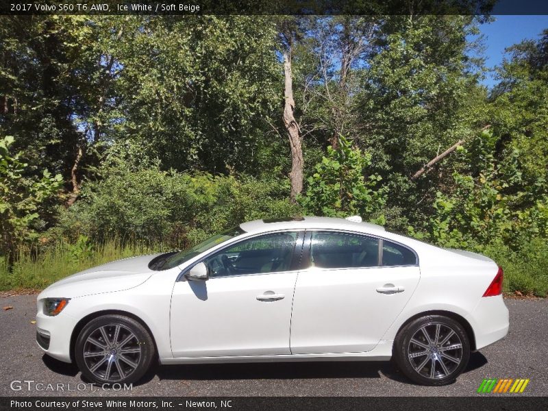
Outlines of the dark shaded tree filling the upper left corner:
{"type": "Polygon", "coordinates": [[[85,101],[92,40],[86,16],[0,16],[0,134],[14,136],[35,173],[70,176],[81,134],[72,119],[85,101]]]}

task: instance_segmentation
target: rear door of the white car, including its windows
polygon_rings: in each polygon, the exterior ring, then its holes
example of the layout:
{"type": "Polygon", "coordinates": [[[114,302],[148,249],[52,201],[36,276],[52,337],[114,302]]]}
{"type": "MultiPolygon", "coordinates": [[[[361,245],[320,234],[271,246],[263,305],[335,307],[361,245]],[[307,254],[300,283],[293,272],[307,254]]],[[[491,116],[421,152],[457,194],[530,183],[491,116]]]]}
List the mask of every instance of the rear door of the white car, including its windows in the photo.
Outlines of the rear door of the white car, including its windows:
{"type": "Polygon", "coordinates": [[[373,349],[419,283],[414,251],[361,234],[307,232],[291,319],[297,353],[373,349]],[[308,251],[308,252],[307,252],[308,251]]]}

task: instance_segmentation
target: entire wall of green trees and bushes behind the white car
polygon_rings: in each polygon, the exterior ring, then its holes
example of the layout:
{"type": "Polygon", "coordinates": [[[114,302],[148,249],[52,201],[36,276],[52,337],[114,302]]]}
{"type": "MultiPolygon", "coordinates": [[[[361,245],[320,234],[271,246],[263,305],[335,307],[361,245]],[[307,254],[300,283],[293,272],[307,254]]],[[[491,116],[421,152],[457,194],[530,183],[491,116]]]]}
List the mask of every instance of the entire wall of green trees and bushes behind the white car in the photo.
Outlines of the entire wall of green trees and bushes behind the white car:
{"type": "Polygon", "coordinates": [[[0,16],[0,287],[249,219],[360,214],[485,253],[507,290],[546,295],[548,31],[510,47],[487,90],[479,24],[0,16]],[[295,202],[288,50],[304,160],[295,202]]]}

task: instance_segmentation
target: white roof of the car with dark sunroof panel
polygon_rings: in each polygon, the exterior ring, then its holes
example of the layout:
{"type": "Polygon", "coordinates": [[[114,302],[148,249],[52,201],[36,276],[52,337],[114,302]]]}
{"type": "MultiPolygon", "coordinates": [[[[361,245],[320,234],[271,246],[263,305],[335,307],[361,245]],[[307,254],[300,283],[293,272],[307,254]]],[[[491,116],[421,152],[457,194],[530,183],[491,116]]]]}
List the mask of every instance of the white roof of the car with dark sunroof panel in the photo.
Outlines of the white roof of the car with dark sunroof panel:
{"type": "Polygon", "coordinates": [[[371,234],[384,233],[384,227],[373,223],[315,216],[254,220],[240,224],[240,228],[248,233],[271,232],[281,229],[343,229],[371,234]]]}

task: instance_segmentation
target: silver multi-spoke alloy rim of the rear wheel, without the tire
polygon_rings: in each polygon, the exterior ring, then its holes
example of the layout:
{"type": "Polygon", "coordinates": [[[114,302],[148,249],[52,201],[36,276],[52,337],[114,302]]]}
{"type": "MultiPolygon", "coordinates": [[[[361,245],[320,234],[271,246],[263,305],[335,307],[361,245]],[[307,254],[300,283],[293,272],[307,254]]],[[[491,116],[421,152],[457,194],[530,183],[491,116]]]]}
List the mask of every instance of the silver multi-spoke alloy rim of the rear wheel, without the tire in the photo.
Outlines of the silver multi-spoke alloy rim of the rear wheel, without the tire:
{"type": "Polygon", "coordinates": [[[462,341],[449,325],[429,323],[413,334],[408,347],[413,369],[429,379],[441,379],[462,362],[462,341]]]}

